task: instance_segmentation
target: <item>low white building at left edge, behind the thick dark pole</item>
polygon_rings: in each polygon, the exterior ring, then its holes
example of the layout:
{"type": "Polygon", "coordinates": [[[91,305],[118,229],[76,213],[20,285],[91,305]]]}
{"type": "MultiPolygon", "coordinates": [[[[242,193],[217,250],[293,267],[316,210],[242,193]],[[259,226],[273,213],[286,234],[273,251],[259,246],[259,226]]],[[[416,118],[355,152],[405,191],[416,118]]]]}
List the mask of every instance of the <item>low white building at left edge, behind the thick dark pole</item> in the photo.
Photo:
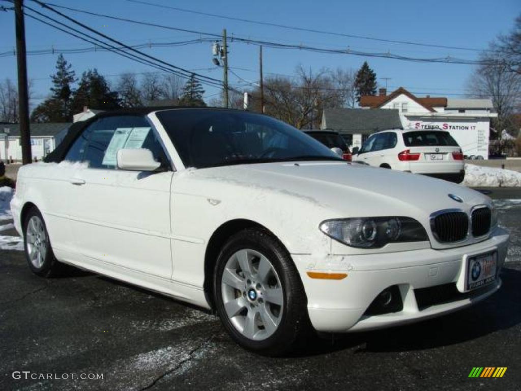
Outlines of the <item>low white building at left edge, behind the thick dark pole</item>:
{"type": "MultiPolygon", "coordinates": [[[[53,151],[65,136],[70,125],[70,123],[30,124],[33,159],[42,160],[53,151]]],[[[15,162],[22,160],[19,124],[0,124],[0,160],[5,161],[6,158],[15,162]]]]}

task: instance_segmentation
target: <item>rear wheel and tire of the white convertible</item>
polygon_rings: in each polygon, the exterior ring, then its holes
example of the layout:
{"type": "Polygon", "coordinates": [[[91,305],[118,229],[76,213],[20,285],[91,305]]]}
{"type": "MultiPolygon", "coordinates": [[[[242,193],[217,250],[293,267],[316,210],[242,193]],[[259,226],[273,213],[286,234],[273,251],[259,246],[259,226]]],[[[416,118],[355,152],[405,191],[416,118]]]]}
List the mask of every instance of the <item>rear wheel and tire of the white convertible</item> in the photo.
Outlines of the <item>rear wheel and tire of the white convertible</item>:
{"type": "Polygon", "coordinates": [[[51,277],[59,270],[43,216],[32,207],[23,221],[23,248],[31,271],[41,277],[51,277]]]}

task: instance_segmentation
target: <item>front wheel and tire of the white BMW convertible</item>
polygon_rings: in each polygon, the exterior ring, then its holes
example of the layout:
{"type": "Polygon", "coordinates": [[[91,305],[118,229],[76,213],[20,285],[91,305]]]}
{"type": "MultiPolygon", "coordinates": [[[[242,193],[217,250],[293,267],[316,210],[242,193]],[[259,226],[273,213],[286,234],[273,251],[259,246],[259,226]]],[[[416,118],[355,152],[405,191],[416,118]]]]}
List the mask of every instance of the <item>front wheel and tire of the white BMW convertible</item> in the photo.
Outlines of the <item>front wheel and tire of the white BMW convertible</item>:
{"type": "Polygon", "coordinates": [[[215,266],[214,297],[226,331],[254,353],[283,355],[311,331],[299,273],[265,230],[245,229],[228,240],[215,266]]]}

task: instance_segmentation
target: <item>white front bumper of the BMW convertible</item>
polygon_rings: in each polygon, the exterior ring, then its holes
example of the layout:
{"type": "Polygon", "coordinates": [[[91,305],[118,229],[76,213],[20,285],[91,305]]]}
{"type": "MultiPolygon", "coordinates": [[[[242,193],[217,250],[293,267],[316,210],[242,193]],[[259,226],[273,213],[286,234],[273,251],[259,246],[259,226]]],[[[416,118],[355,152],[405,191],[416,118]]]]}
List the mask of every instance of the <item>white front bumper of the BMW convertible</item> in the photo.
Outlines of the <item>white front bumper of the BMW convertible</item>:
{"type": "Polygon", "coordinates": [[[508,233],[497,228],[491,237],[474,245],[445,250],[423,249],[367,255],[295,255],[302,276],[312,325],[320,332],[351,332],[411,323],[446,314],[492,295],[501,286],[508,233]],[[486,287],[449,300],[423,306],[416,298],[422,288],[454,285],[465,273],[464,258],[498,252],[498,278],[486,287]],[[344,272],[340,280],[314,279],[307,272],[344,272]],[[390,286],[398,286],[403,309],[382,315],[364,315],[371,302],[390,286]]]}

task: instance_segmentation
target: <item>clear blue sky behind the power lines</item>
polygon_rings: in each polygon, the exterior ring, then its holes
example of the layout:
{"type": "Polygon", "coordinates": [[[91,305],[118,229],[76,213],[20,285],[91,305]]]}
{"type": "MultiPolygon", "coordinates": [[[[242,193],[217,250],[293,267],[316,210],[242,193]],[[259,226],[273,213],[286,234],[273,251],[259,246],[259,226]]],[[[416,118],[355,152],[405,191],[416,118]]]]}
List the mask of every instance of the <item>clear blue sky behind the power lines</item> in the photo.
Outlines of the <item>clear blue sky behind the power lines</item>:
{"type": "MultiPolygon", "coordinates": [[[[478,52],[463,49],[438,48],[381,42],[348,36],[314,33],[308,31],[259,25],[238,20],[199,15],[187,11],[157,7],[129,0],[48,0],[50,4],[89,10],[110,16],[158,23],[171,27],[221,34],[226,28],[229,37],[230,84],[241,87],[246,82],[258,81],[258,46],[233,42],[234,35],[241,38],[264,40],[285,44],[311,45],[324,48],[350,48],[354,51],[393,53],[409,57],[457,57],[476,59],[478,52]]],[[[514,19],[521,13],[519,0],[371,0],[371,1],[311,1],[265,0],[244,2],[237,0],[182,1],[143,0],[169,7],[200,11],[207,14],[249,19],[299,28],[324,30],[334,33],[366,36],[395,41],[413,41],[429,45],[485,49],[498,34],[508,33],[514,19]]],[[[42,8],[31,0],[25,3],[39,11],[42,8]]],[[[9,3],[0,0],[6,7],[9,3]]],[[[127,22],[79,14],[59,9],[63,13],[89,25],[126,44],[168,43],[198,40],[201,34],[138,26],[127,22]]],[[[56,15],[52,15],[57,17],[56,15]]],[[[57,17],[59,18],[59,17],[57,17]]],[[[61,19],[63,20],[63,19],[61,19]]],[[[0,12],[0,53],[13,51],[15,26],[13,11],[0,12]]],[[[87,48],[93,45],[64,32],[54,30],[41,22],[26,17],[27,50],[87,48]]],[[[142,49],[170,64],[219,79],[222,68],[212,63],[211,43],[196,42],[182,46],[152,47],[142,49]]],[[[377,74],[379,87],[392,91],[405,87],[418,96],[462,97],[467,80],[475,65],[433,64],[406,62],[390,58],[374,58],[348,54],[324,54],[295,49],[263,49],[265,77],[270,74],[294,75],[302,65],[313,72],[321,69],[358,69],[364,60],[377,74]],[[384,80],[384,78],[388,78],[384,80]]],[[[28,77],[32,79],[36,99],[33,105],[49,94],[55,71],[57,54],[28,56],[28,77]]],[[[100,51],[65,54],[65,58],[77,76],[88,68],[97,68],[111,83],[116,83],[123,72],[157,71],[143,64],[132,62],[114,53],[100,51]]],[[[16,81],[16,56],[0,57],[0,79],[16,81]]],[[[219,94],[219,89],[204,86],[205,99],[219,94]]]]}

